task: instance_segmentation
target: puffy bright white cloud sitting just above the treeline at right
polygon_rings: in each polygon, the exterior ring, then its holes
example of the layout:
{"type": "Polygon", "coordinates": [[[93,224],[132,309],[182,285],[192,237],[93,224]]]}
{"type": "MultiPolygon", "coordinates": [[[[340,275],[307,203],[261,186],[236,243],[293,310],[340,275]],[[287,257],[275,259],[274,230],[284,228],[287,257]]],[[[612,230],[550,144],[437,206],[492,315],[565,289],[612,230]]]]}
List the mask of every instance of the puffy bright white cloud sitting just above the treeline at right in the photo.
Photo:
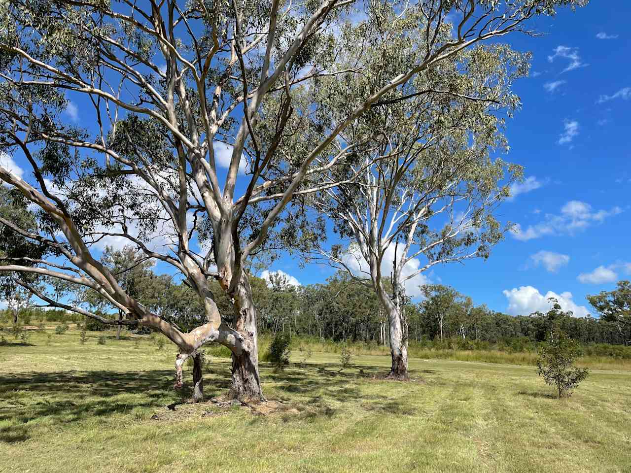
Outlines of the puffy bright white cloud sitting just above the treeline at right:
{"type": "Polygon", "coordinates": [[[533,286],[521,286],[519,289],[513,288],[505,289],[502,293],[509,301],[509,306],[506,310],[510,315],[530,315],[533,312],[547,312],[551,308],[549,298],[555,298],[562,310],[570,310],[574,314],[574,317],[586,317],[589,315],[589,310],[584,305],[577,305],[572,300],[572,293],[569,291],[557,294],[553,291],[548,291],[546,295],[541,295],[538,289],[533,286]]]}

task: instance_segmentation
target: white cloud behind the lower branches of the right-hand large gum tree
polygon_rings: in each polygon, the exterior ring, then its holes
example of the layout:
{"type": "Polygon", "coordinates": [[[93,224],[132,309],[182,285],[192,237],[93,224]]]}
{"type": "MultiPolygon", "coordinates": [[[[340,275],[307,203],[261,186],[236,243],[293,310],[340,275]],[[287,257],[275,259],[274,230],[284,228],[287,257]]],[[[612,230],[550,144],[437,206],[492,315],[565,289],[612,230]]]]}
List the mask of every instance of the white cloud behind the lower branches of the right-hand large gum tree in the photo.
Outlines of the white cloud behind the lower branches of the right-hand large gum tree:
{"type": "MultiPolygon", "coordinates": [[[[401,255],[403,254],[405,245],[403,243],[390,243],[389,247],[386,248],[384,252],[384,257],[381,261],[381,274],[384,277],[389,277],[392,273],[392,268],[394,265],[392,264],[394,260],[394,250],[396,249],[396,257],[398,260],[401,259],[401,255]]],[[[343,261],[346,266],[348,266],[353,274],[357,276],[367,276],[370,274],[369,264],[363,259],[361,252],[358,248],[351,250],[350,253],[346,254],[343,257],[343,261]]],[[[403,286],[405,288],[406,296],[410,297],[418,297],[421,295],[420,286],[423,284],[429,284],[429,277],[425,276],[422,272],[419,274],[415,274],[412,276],[418,269],[421,267],[421,261],[418,258],[413,258],[408,261],[403,269],[401,270],[401,279],[404,280],[403,286]],[[411,276],[411,277],[410,277],[411,276]],[[406,279],[410,277],[410,279],[406,279]]]]}

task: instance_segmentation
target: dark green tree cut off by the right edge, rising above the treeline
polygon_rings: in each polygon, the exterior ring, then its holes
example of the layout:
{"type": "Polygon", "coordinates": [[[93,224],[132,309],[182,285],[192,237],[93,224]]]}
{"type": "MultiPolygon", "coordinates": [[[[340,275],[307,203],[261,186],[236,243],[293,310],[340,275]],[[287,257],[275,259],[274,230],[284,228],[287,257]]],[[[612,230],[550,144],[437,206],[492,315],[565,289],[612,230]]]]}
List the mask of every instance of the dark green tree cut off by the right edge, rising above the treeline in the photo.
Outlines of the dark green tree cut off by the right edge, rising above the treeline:
{"type": "Polygon", "coordinates": [[[587,300],[600,317],[607,322],[613,322],[623,344],[631,344],[631,282],[618,281],[617,289],[601,291],[594,296],[587,296],[587,300]]]}

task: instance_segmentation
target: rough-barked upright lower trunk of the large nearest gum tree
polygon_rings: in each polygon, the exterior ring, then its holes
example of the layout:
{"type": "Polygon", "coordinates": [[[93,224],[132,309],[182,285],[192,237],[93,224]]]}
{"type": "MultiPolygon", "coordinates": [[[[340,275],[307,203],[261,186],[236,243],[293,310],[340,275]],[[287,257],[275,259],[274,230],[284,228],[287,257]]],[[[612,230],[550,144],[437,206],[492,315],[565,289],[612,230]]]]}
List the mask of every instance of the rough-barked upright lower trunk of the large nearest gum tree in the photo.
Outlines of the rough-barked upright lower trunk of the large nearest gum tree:
{"type": "Polygon", "coordinates": [[[228,399],[258,402],[264,398],[259,377],[256,309],[252,301],[252,289],[245,275],[242,276],[235,297],[235,319],[235,329],[248,339],[249,350],[238,355],[232,354],[232,386],[228,399]]]}

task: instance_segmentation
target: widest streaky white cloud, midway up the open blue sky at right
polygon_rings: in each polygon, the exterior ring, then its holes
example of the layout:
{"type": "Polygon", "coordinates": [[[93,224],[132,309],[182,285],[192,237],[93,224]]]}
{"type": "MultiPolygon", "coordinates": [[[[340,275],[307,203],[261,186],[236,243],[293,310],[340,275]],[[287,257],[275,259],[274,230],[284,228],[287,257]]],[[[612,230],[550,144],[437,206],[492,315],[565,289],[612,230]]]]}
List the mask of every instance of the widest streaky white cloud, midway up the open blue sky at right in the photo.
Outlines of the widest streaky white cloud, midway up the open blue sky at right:
{"type": "Polygon", "coordinates": [[[561,213],[546,214],[543,221],[536,225],[529,225],[526,230],[517,224],[512,229],[516,240],[526,242],[545,235],[563,235],[585,230],[593,223],[601,223],[604,219],[622,213],[622,208],[615,206],[610,210],[593,211],[586,202],[569,201],[561,207],[561,213]]]}

